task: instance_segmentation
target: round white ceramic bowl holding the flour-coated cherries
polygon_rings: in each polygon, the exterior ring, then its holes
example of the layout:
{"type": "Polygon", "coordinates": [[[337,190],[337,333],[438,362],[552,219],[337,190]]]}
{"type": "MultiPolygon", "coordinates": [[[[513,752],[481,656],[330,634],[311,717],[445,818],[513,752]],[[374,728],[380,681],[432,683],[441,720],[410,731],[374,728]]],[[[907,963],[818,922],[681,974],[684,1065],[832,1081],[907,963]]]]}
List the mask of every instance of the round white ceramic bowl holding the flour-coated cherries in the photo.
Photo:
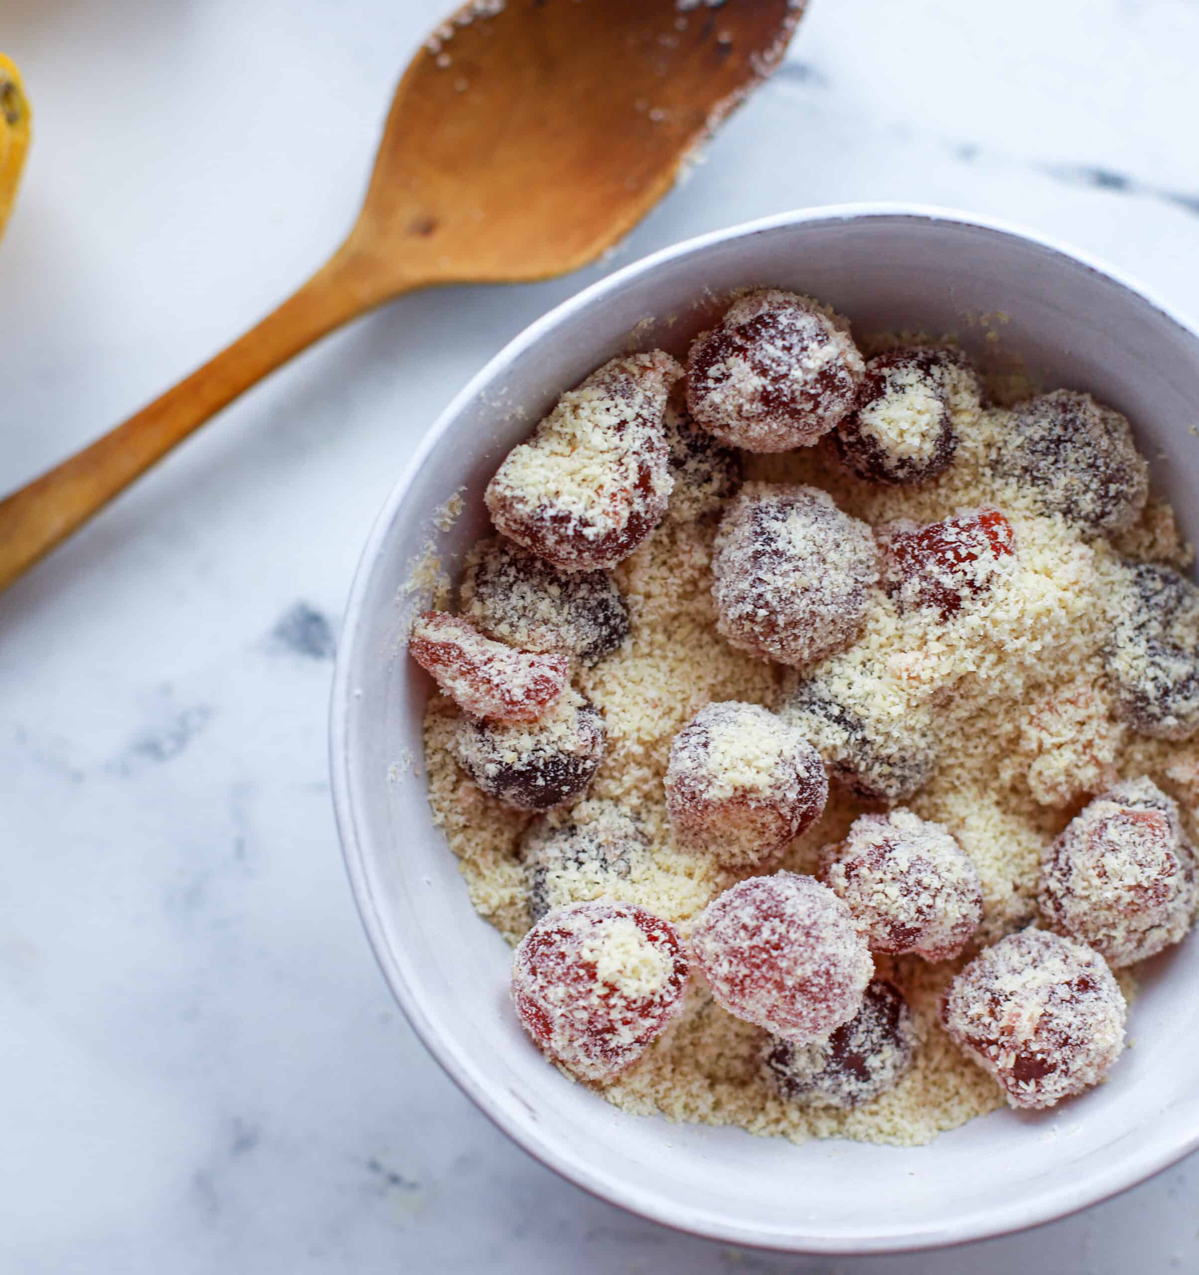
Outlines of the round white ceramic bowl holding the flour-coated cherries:
{"type": "Polygon", "coordinates": [[[482,491],[560,390],[624,351],[677,348],[705,289],[813,293],[860,332],[986,333],[1047,384],[1134,422],[1154,487],[1199,533],[1199,337],[1111,270],[1038,236],[957,213],[855,205],[788,213],[638,261],[559,306],[483,368],[432,426],[379,516],[353,584],[333,691],[332,762],[349,878],[397,1000],[445,1070],[526,1150],[635,1213],[796,1252],[878,1252],[1046,1221],[1199,1145],[1199,942],[1159,959],[1111,1081],[1059,1113],[996,1112],[929,1146],[795,1146],[607,1105],[547,1066],[508,1001],[510,952],[467,899],[421,780],[427,681],[398,643],[401,590],[430,537],[453,572],[485,527],[482,491]],[[981,314],[1008,316],[997,329],[981,314]],[[464,488],[448,533],[432,514],[464,488]],[[415,769],[407,759],[415,757],[415,769]],[[394,769],[393,769],[394,768],[394,769]]]}

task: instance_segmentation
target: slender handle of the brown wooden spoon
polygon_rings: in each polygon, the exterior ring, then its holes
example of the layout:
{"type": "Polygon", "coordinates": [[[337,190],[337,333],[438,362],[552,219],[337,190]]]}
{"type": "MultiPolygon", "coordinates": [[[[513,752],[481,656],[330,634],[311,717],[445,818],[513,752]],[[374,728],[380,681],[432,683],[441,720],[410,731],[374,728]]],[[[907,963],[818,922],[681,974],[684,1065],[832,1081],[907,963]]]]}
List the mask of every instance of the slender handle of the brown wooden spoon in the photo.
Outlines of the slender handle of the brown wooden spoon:
{"type": "MultiPolygon", "coordinates": [[[[398,291],[392,282],[388,295],[398,291]]],[[[0,501],[0,589],[239,394],[381,300],[369,264],[347,245],[278,310],[186,380],[0,501]]]]}

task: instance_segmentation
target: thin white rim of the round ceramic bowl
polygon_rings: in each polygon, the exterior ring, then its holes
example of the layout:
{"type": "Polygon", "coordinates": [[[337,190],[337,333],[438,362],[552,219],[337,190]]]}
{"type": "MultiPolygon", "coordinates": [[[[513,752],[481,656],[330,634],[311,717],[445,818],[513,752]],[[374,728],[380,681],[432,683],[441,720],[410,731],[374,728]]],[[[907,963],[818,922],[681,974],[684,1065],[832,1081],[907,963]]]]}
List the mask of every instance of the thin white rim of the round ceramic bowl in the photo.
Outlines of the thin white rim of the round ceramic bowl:
{"type": "Polygon", "coordinates": [[[330,694],[329,769],[333,807],[355,903],[375,959],[392,989],[392,994],[404,1011],[416,1034],[446,1075],[519,1148],[541,1164],[545,1164],[566,1178],[566,1181],[597,1198],[619,1205],[638,1216],[685,1234],[776,1252],[841,1256],[912,1252],[964,1244],[972,1241],[987,1239],[1043,1225],[1077,1213],[1080,1209],[1100,1204],[1121,1191],[1126,1191],[1199,1149],[1199,1121],[1194,1122],[1194,1127],[1188,1127],[1186,1122],[1163,1126],[1154,1141],[1143,1148],[1138,1154],[1119,1159],[1102,1170],[1088,1174],[1084,1178],[1064,1182],[1057,1190],[1042,1193],[1036,1200],[997,1206],[983,1205],[968,1214],[946,1218],[944,1224],[936,1228],[929,1228],[913,1234],[883,1233],[875,1235],[864,1234],[861,1237],[795,1235],[793,1238],[788,1238],[773,1230],[763,1232],[751,1225],[739,1225],[727,1220],[714,1219],[707,1213],[691,1210],[686,1205],[672,1204],[661,1198],[645,1198],[639,1192],[630,1191],[619,1177],[594,1170],[587,1163],[585,1156],[563,1154],[560,1149],[542,1137],[537,1123],[529,1119],[524,1112],[506,1108],[499,1103],[476,1068],[464,1057],[455,1053],[443,1038],[435,1019],[423,1007],[421,996],[416,991],[415,980],[411,978],[408,969],[406,969],[403,960],[392,952],[386,942],[383,917],[369,889],[364,845],[352,799],[353,785],[349,773],[348,748],[348,718],[352,697],[349,685],[351,667],[355,663],[355,648],[361,631],[360,620],[369,578],[399,506],[407,499],[417,473],[441,436],[458,418],[466,405],[485,386],[501,375],[514,358],[543,339],[546,334],[557,328],[569,316],[601,302],[610,295],[619,293],[631,279],[667,261],[702,254],[718,244],[749,237],[764,231],[820,222],[857,222],[875,218],[906,219],[926,224],[966,226],[1031,242],[1047,252],[1064,256],[1071,263],[1082,265],[1087,270],[1100,274],[1134,293],[1139,300],[1157,310],[1166,320],[1199,344],[1199,330],[1186,317],[1106,261],[1066,245],[1052,236],[1042,235],[1040,231],[1001,218],[952,208],[892,201],[828,204],[741,222],[725,229],[709,231],[704,235],[698,235],[668,247],[659,249],[580,289],[524,328],[471,377],[467,385],[450,400],[425,433],[371,525],[370,534],[358,560],[342,622],[342,640],[337,648],[337,662],[330,694]]]}

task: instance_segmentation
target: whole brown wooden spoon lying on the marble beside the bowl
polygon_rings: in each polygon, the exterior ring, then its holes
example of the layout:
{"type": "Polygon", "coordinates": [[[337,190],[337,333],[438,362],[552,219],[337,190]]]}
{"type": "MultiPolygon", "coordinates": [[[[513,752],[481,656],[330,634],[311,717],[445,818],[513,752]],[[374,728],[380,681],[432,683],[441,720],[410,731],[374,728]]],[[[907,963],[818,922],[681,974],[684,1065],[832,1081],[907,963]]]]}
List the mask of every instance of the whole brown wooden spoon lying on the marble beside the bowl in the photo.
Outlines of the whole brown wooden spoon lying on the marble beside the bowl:
{"type": "Polygon", "coordinates": [[[295,296],[0,502],[0,589],[193,430],[348,319],[436,283],[578,269],[782,57],[804,0],[474,0],[395,91],[358,221],[295,296]]]}

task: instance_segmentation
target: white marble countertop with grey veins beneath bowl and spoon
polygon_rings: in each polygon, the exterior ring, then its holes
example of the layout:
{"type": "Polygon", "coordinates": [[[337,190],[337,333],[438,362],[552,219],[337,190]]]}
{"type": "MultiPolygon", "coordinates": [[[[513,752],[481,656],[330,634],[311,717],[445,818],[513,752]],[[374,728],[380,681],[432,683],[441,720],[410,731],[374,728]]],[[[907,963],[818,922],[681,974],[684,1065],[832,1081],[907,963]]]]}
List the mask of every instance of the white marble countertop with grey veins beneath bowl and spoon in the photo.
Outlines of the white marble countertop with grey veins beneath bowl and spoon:
{"type": "MultiPolygon", "coordinates": [[[[0,488],[320,263],[444,4],[6,0],[0,45],[37,135],[0,250],[0,488]]],[[[1199,1160],[1042,1230],[861,1261],[736,1252],[592,1200],[409,1031],[358,926],[325,770],[366,529],[421,431],[520,328],[666,244],[860,199],[1023,222],[1194,315],[1196,55],[1194,0],[814,0],[777,78],[612,258],[353,324],[0,595],[5,1271],[1199,1267],[1199,1160]]]]}

